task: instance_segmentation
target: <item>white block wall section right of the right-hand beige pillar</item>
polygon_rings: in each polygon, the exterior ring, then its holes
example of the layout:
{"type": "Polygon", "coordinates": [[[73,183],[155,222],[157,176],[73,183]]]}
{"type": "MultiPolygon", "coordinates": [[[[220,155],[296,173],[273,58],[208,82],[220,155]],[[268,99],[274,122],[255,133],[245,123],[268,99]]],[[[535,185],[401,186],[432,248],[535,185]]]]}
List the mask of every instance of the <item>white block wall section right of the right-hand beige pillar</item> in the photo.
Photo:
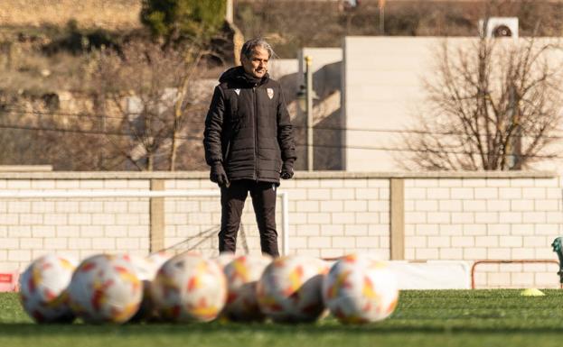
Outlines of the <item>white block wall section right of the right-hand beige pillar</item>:
{"type": "MultiPolygon", "coordinates": [[[[405,186],[408,260],[556,260],[560,178],[413,178],[405,186]]],[[[475,284],[557,287],[557,271],[557,264],[483,264],[475,284]]]]}

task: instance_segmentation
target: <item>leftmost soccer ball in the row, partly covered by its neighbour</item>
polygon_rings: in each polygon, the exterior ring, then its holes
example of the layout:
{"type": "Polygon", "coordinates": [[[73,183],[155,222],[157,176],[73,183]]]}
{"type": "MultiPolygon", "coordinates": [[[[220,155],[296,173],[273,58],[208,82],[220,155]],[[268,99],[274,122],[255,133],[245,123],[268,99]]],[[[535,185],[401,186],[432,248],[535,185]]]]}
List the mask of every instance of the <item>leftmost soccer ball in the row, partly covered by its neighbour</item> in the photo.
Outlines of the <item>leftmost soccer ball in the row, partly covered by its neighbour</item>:
{"type": "Polygon", "coordinates": [[[76,261],[54,254],[33,262],[20,276],[23,309],[37,323],[72,322],[67,288],[76,261]]]}

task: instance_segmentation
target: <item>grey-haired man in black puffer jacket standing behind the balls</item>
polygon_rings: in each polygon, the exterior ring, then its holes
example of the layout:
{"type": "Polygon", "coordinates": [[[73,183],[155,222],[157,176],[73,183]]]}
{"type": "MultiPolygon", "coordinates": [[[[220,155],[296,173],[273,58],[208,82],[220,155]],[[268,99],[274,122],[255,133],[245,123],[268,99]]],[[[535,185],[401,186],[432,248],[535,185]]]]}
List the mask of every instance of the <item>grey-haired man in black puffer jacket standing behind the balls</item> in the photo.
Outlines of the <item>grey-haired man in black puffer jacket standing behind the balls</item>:
{"type": "Polygon", "coordinates": [[[205,160],[221,187],[220,252],[236,250],[250,192],[262,252],[279,255],[276,190],[279,178],[293,177],[296,149],[281,87],[267,74],[272,54],[267,41],[245,42],[242,66],[221,75],[205,119],[205,160]]]}

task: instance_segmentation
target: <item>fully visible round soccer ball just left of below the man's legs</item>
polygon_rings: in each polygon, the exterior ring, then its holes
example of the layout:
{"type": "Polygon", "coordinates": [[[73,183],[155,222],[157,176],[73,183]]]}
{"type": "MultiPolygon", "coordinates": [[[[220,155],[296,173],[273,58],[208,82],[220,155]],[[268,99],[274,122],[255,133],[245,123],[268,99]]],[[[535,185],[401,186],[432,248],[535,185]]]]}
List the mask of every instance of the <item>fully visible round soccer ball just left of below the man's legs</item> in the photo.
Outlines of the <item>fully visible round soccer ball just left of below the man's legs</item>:
{"type": "Polygon", "coordinates": [[[227,283],[217,262],[183,253],[158,270],[151,283],[151,297],[166,320],[208,322],[225,306],[227,283]]]}

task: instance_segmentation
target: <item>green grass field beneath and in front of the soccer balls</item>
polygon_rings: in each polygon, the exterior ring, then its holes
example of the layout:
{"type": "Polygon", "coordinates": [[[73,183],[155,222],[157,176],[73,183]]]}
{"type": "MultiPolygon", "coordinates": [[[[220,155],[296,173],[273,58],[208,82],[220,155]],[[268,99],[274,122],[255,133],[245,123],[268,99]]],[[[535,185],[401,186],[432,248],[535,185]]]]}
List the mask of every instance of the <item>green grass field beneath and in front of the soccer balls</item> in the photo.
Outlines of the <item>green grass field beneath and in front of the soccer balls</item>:
{"type": "Polygon", "coordinates": [[[384,322],[316,324],[39,325],[14,294],[0,295],[0,347],[20,346],[559,346],[563,290],[403,291],[384,322]]]}

